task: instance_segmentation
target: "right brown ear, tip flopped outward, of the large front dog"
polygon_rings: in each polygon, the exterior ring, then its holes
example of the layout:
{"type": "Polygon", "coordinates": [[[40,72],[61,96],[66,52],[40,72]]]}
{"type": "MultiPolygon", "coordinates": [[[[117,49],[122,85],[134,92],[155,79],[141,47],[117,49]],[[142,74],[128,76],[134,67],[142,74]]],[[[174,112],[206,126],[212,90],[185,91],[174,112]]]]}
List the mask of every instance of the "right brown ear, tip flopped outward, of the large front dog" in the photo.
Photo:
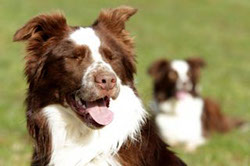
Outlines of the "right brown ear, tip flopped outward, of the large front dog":
{"type": "Polygon", "coordinates": [[[137,12],[129,6],[102,10],[94,25],[101,24],[109,31],[119,34],[125,29],[125,22],[137,12]]]}

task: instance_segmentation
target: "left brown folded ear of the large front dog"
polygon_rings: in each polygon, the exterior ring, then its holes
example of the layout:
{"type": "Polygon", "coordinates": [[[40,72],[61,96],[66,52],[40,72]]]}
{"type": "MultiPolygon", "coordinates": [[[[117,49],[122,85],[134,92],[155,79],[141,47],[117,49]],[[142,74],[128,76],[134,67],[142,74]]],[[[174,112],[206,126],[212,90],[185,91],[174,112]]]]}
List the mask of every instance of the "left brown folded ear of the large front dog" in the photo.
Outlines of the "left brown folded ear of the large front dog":
{"type": "Polygon", "coordinates": [[[61,13],[41,14],[32,18],[22,28],[17,30],[13,41],[36,39],[43,42],[53,36],[62,35],[67,28],[66,19],[61,13]]]}

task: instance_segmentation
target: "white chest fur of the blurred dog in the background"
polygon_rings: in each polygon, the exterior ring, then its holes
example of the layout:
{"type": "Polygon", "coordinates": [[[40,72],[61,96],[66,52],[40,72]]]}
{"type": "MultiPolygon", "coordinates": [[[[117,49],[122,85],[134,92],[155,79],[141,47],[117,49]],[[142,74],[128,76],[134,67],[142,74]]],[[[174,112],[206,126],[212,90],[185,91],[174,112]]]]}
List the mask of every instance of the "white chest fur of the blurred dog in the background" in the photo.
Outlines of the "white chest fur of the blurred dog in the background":
{"type": "Polygon", "coordinates": [[[204,143],[202,134],[203,100],[188,96],[182,100],[170,99],[159,103],[156,124],[164,141],[170,145],[184,143],[194,150],[204,143]]]}

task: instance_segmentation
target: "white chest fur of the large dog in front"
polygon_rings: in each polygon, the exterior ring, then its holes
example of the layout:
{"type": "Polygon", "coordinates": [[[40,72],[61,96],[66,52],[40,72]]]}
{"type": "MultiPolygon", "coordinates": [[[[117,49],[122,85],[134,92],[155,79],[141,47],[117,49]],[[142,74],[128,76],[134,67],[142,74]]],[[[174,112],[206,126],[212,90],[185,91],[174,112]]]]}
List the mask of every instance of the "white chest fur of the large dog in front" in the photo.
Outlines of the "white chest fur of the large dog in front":
{"type": "Polygon", "coordinates": [[[49,165],[119,166],[116,153],[126,139],[136,139],[146,112],[127,86],[121,86],[109,109],[114,112],[113,121],[100,130],[92,130],[70,109],[60,105],[45,107],[43,112],[52,135],[49,165]]]}

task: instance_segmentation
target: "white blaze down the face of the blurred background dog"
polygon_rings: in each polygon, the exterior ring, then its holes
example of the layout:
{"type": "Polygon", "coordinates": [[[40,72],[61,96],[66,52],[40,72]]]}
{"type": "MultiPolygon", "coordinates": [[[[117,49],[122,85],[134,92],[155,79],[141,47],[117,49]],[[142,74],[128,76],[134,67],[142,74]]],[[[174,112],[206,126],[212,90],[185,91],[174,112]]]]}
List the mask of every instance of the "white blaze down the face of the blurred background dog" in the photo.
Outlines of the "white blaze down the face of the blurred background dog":
{"type": "Polygon", "coordinates": [[[182,60],[174,60],[171,62],[171,68],[175,70],[178,74],[176,89],[191,90],[193,85],[188,76],[188,71],[190,69],[188,63],[182,60]]]}

